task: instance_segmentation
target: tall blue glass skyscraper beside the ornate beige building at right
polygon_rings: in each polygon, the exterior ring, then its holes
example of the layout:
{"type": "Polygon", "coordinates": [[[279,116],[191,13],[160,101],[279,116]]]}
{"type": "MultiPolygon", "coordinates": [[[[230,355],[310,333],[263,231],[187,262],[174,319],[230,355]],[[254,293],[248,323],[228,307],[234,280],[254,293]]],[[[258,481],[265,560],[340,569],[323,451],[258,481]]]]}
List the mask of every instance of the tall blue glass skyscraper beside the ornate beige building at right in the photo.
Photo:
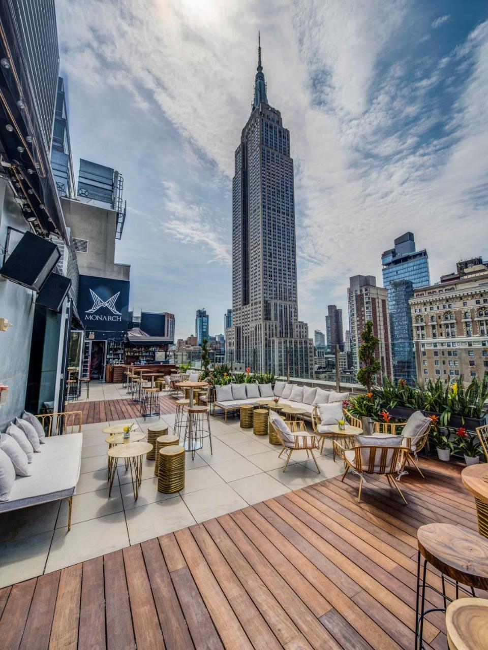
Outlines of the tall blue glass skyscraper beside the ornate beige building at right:
{"type": "Polygon", "coordinates": [[[416,370],[409,298],[414,289],[430,284],[429,257],[425,248],[415,250],[413,233],[405,233],[397,237],[395,248],[381,255],[381,264],[383,285],[388,290],[394,380],[413,383],[416,370]]]}

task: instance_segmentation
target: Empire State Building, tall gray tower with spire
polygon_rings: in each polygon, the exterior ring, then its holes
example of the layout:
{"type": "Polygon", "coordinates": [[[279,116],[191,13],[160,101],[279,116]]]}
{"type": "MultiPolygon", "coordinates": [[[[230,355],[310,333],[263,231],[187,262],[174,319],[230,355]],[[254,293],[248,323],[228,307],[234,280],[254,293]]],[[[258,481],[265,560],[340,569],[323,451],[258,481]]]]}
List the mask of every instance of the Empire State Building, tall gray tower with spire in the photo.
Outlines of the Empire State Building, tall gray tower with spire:
{"type": "Polygon", "coordinates": [[[232,181],[232,309],[228,360],[232,353],[256,372],[312,376],[313,341],[298,320],[290,132],[267,101],[260,42],[232,181]]]}

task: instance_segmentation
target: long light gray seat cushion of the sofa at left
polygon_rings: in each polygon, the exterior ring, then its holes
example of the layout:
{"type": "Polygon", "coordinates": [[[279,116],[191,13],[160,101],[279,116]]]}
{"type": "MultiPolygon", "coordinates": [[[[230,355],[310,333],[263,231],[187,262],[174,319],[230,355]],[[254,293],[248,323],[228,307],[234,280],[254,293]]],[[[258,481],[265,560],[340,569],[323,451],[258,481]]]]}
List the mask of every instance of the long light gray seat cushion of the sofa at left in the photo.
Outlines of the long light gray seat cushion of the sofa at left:
{"type": "Polygon", "coordinates": [[[71,497],[79,478],[82,434],[46,438],[42,454],[35,454],[31,476],[18,476],[0,512],[71,497]]]}

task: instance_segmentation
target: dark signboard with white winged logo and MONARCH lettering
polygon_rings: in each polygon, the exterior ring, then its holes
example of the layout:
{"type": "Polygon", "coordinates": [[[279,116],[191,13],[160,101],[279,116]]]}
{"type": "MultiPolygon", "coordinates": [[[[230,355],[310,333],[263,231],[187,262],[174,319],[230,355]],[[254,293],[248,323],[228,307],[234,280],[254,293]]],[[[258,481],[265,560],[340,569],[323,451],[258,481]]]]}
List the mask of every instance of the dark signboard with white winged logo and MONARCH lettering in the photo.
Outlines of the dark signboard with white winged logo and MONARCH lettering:
{"type": "Polygon", "coordinates": [[[85,329],[127,331],[129,287],[126,280],[79,276],[77,307],[85,329]]]}

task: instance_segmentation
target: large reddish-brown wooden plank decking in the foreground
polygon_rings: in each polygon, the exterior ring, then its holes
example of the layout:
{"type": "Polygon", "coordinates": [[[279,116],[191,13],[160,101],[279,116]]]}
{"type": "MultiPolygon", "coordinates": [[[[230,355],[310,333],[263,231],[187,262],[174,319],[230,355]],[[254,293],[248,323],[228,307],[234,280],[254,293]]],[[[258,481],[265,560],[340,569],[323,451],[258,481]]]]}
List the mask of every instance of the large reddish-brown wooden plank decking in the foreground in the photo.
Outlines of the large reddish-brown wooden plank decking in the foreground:
{"type": "MultiPolygon", "coordinates": [[[[459,469],[422,469],[402,478],[407,506],[385,480],[357,504],[357,478],[334,478],[4,588],[0,646],[410,650],[418,526],[476,530],[459,469]]],[[[428,621],[446,649],[444,615],[428,621]]]]}

